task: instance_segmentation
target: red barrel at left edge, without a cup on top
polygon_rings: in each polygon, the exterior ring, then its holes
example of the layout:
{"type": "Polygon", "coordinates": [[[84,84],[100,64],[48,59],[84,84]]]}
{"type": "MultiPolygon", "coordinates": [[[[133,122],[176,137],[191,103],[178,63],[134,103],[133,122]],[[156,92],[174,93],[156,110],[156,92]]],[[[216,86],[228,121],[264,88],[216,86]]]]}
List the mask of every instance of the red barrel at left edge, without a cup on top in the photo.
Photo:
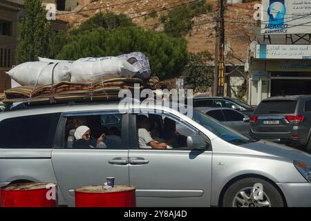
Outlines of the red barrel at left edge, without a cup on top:
{"type": "Polygon", "coordinates": [[[56,184],[50,183],[10,184],[1,187],[0,206],[55,207],[57,205],[56,190],[56,184]]]}

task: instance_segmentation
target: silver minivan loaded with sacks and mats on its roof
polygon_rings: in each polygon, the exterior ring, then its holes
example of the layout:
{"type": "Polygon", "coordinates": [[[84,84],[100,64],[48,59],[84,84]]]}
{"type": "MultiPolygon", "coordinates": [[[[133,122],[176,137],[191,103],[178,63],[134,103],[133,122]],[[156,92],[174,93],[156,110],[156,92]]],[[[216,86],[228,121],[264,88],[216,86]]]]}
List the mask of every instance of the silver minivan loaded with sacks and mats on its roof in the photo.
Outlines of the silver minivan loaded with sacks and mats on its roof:
{"type": "Polygon", "coordinates": [[[249,140],[196,110],[187,117],[142,104],[32,106],[0,113],[0,134],[0,185],[57,183],[59,205],[74,206],[76,188],[114,176],[117,184],[136,187],[138,206],[311,206],[308,153],[249,140]],[[142,111],[158,130],[169,117],[187,139],[173,148],[141,149],[136,117],[142,111]],[[106,133],[105,148],[73,148],[79,125],[95,138],[106,133]]]}

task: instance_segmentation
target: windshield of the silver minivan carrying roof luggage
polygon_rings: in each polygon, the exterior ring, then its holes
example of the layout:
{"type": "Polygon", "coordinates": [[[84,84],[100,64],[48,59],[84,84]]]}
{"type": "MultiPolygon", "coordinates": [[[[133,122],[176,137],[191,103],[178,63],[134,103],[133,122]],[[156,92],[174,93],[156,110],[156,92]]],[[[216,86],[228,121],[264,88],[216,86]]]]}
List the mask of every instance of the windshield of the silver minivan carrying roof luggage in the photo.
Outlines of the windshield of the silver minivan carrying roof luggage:
{"type": "Polygon", "coordinates": [[[249,140],[249,138],[241,135],[237,131],[234,131],[232,128],[228,128],[218,120],[213,119],[202,113],[196,109],[193,111],[193,117],[195,122],[207,128],[207,130],[211,131],[221,139],[225,140],[226,142],[232,144],[246,144],[249,142],[254,142],[256,140],[249,140]]]}

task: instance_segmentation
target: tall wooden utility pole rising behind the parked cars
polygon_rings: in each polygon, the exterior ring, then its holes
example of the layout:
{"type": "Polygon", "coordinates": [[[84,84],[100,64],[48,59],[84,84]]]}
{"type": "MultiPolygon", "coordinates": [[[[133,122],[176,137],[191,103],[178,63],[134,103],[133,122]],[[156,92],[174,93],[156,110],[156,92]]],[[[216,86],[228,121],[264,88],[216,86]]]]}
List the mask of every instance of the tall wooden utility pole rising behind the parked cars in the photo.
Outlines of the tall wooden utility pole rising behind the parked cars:
{"type": "Polygon", "coordinates": [[[225,3],[226,0],[218,0],[219,13],[216,18],[214,95],[220,97],[224,95],[225,85],[225,3]]]}

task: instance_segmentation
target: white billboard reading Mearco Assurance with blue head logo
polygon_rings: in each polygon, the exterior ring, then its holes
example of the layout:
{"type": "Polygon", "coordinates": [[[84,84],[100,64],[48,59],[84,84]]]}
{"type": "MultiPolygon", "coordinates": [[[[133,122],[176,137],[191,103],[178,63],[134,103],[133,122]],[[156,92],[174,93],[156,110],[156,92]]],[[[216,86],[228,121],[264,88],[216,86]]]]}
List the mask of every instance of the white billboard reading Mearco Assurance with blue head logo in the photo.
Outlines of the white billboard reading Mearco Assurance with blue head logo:
{"type": "Polygon", "coordinates": [[[262,0],[261,34],[311,33],[311,0],[262,0]]]}

